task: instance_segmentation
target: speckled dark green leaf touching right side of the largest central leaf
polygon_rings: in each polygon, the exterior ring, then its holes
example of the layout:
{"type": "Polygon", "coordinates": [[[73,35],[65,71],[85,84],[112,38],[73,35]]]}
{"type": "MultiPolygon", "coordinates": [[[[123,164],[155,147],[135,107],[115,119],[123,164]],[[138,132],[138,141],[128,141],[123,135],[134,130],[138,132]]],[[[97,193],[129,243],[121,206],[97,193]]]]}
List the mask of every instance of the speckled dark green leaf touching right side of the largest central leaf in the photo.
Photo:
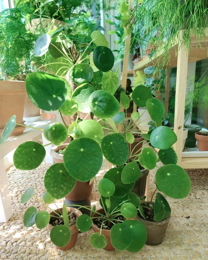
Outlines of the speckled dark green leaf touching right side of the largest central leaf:
{"type": "Polygon", "coordinates": [[[120,133],[104,136],[101,140],[101,149],[105,159],[117,166],[124,165],[129,156],[129,146],[120,133]]]}

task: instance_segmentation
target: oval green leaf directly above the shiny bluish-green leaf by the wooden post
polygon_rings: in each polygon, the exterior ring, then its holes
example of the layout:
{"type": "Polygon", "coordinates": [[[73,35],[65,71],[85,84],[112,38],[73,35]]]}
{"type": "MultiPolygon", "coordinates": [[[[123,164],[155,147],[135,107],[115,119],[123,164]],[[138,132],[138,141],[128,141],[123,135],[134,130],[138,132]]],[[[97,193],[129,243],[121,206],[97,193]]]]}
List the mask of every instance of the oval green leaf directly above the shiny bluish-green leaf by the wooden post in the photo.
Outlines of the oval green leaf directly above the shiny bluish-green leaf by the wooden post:
{"type": "Polygon", "coordinates": [[[147,99],[147,111],[153,121],[159,121],[164,117],[165,108],[163,103],[156,98],[147,99]]]}

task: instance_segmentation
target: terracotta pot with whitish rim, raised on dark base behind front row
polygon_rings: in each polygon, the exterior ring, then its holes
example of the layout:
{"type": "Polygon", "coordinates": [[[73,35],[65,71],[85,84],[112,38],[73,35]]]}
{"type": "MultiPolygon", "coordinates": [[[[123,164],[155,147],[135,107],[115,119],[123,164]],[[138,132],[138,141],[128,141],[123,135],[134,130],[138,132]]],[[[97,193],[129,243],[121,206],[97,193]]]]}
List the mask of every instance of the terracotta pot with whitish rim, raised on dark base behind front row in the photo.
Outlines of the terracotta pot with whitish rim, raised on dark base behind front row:
{"type": "MultiPolygon", "coordinates": [[[[55,163],[63,163],[63,154],[57,153],[60,150],[60,147],[66,148],[68,144],[54,146],[51,148],[51,155],[55,160],[55,163]]],[[[82,201],[86,200],[92,196],[93,183],[89,185],[90,181],[81,182],[77,181],[74,189],[65,197],[70,201],[82,201]]]]}

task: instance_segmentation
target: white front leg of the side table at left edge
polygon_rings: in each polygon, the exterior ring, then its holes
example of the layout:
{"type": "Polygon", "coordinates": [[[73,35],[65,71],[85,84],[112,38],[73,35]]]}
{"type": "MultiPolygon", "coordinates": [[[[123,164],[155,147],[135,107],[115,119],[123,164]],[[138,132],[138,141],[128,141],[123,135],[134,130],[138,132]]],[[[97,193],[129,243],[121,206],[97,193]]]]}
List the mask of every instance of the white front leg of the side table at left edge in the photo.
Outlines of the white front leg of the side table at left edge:
{"type": "Polygon", "coordinates": [[[7,182],[4,159],[0,159],[0,223],[7,222],[12,216],[11,199],[7,182]]]}

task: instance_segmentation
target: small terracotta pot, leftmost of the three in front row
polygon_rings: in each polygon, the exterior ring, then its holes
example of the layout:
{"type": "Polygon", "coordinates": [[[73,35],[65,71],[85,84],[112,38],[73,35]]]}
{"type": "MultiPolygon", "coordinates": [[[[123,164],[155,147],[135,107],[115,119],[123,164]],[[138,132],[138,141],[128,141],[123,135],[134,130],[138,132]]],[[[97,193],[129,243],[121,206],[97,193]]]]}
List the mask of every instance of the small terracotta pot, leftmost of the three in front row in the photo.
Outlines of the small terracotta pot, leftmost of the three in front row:
{"type": "MultiPolygon", "coordinates": [[[[62,212],[62,209],[63,209],[63,208],[60,208],[59,210],[62,212]]],[[[58,209],[55,209],[55,211],[56,211],[57,213],[59,213],[59,210],[58,210],[58,209]]],[[[72,212],[72,211],[74,211],[74,210],[76,210],[76,209],[75,209],[75,208],[71,208],[71,207],[67,207],[67,211],[68,211],[68,212],[72,212]]],[[[79,211],[78,209],[74,212],[74,214],[76,215],[77,218],[78,218],[80,215],[82,215],[81,211],[79,211]]],[[[50,212],[50,215],[55,215],[55,213],[54,213],[53,211],[51,211],[51,212],[50,212]]],[[[48,224],[48,225],[47,225],[47,229],[48,229],[49,231],[51,231],[51,229],[52,229],[53,227],[54,227],[54,226],[52,226],[51,224],[48,224]]],[[[75,224],[75,225],[72,225],[72,226],[69,226],[69,229],[70,229],[70,231],[71,231],[71,239],[70,239],[69,243],[68,243],[67,245],[65,245],[65,247],[58,247],[58,246],[56,246],[57,249],[60,249],[60,250],[68,250],[68,249],[72,248],[72,247],[75,245],[75,243],[76,243],[76,241],[77,241],[77,237],[78,237],[79,231],[78,231],[78,229],[77,229],[76,224],[75,224]]]]}

